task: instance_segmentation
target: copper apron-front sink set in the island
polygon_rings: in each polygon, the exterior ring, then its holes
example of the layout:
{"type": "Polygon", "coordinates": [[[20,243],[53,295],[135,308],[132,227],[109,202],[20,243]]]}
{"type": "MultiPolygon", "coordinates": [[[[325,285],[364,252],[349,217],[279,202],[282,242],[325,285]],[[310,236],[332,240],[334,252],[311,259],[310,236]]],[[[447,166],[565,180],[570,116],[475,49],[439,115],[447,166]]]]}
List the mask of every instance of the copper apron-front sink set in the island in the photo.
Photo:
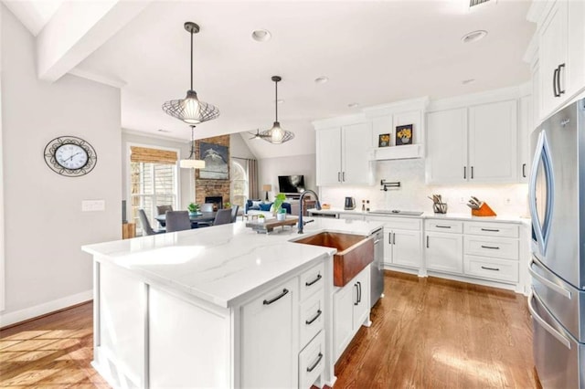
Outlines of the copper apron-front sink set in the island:
{"type": "Polygon", "coordinates": [[[304,245],[333,247],[333,284],[343,287],[374,260],[374,239],[363,235],[322,232],[293,241],[304,245]]]}

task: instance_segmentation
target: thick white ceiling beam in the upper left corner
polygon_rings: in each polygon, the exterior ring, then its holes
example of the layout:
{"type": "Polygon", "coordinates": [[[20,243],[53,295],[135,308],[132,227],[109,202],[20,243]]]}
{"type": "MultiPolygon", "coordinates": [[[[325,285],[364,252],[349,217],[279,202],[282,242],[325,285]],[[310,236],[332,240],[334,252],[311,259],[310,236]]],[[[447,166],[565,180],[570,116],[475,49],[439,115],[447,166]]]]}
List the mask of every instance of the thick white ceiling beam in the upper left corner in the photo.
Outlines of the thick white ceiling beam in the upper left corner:
{"type": "Polygon", "coordinates": [[[37,75],[54,82],[101,47],[151,0],[64,2],[37,36],[37,75]]]}

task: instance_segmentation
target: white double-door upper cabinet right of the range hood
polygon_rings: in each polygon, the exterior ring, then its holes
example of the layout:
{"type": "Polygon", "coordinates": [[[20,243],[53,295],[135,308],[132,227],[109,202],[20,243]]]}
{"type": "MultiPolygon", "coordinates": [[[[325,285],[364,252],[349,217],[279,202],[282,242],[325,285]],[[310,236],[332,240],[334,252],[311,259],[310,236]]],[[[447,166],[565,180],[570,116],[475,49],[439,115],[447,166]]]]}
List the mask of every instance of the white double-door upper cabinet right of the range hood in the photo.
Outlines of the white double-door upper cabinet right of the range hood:
{"type": "Polygon", "coordinates": [[[516,100],[429,112],[427,183],[517,182],[517,129],[516,100]]]}

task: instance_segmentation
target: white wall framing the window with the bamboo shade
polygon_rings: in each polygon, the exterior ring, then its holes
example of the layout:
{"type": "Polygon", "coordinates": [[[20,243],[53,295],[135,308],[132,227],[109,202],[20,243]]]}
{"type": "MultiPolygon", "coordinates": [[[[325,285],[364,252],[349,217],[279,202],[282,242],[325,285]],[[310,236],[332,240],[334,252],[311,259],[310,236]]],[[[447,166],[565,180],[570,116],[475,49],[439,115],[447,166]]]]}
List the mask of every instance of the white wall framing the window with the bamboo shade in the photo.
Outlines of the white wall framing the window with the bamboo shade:
{"type": "MultiPolygon", "coordinates": [[[[161,110],[162,112],[162,110],[161,110]]],[[[190,130],[189,130],[190,131],[190,130]]],[[[140,133],[122,130],[122,198],[127,201],[126,214],[130,215],[130,193],[128,192],[128,181],[130,179],[128,166],[130,163],[129,143],[160,147],[163,149],[174,149],[179,151],[179,159],[187,158],[191,152],[191,141],[181,142],[163,137],[153,137],[140,133]]],[[[180,209],[186,209],[195,199],[195,170],[179,169],[179,205],[180,209]]]]}

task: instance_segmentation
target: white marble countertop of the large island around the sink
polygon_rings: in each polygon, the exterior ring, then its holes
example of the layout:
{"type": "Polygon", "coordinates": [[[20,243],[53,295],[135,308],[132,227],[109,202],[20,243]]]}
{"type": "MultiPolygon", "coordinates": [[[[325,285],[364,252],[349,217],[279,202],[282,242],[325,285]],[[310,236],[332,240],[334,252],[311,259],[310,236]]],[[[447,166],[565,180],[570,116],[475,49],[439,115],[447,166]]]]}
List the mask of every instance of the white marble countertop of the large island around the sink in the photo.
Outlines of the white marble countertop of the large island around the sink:
{"type": "MultiPolygon", "coordinates": [[[[305,217],[305,220],[311,218],[305,217]]],[[[272,279],[292,273],[335,248],[291,242],[322,231],[368,236],[382,222],[314,218],[304,226],[258,234],[244,222],[86,245],[94,259],[131,270],[146,281],[230,307],[272,279]]]]}

